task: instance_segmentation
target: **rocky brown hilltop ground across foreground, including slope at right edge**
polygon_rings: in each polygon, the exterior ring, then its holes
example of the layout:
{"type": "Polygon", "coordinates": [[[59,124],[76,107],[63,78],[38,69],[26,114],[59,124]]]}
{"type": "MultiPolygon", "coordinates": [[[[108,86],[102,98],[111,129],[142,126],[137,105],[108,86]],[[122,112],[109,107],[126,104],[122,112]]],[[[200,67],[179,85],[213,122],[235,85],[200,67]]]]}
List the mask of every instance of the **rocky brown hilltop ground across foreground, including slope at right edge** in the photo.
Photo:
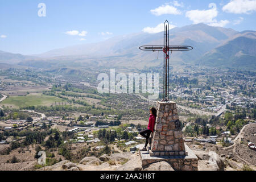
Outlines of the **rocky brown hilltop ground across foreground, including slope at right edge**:
{"type": "MultiPolygon", "coordinates": [[[[255,143],[255,124],[247,125],[245,130],[241,133],[241,140],[238,139],[237,142],[226,150],[216,144],[210,143],[199,143],[193,142],[192,144],[187,143],[189,148],[196,154],[199,158],[199,171],[237,171],[243,169],[243,164],[249,165],[250,168],[256,169],[255,159],[256,152],[250,150],[246,146],[248,141],[255,143]]],[[[4,145],[1,145],[2,149],[4,145]]],[[[81,146],[80,146],[81,147],[81,146]]],[[[78,148],[77,148],[78,149],[78,148]]],[[[56,163],[52,166],[46,166],[40,168],[40,171],[174,171],[174,169],[167,162],[158,162],[150,164],[145,168],[142,168],[141,158],[139,152],[136,151],[134,154],[130,152],[114,153],[110,155],[102,155],[98,158],[95,156],[86,156],[77,162],[71,162],[65,160],[63,156],[58,155],[57,151],[55,156],[60,158],[62,161],[56,163]]],[[[34,158],[35,148],[23,148],[15,149],[11,151],[11,155],[2,155],[0,158],[0,168],[2,170],[36,170],[35,164],[36,159],[34,158]],[[19,160],[18,163],[7,163],[7,160],[11,160],[13,156],[19,160]]]]}

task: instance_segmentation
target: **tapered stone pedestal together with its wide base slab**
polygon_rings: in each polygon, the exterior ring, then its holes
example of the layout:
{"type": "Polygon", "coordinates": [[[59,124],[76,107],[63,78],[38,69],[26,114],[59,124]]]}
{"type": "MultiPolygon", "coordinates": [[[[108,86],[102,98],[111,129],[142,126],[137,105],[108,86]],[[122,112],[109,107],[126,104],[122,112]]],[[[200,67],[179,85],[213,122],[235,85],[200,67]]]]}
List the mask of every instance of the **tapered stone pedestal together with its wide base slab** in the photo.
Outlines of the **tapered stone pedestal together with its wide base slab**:
{"type": "Polygon", "coordinates": [[[149,151],[139,151],[142,166],[165,160],[175,170],[197,171],[198,158],[184,143],[181,123],[173,101],[158,102],[149,151]]]}

